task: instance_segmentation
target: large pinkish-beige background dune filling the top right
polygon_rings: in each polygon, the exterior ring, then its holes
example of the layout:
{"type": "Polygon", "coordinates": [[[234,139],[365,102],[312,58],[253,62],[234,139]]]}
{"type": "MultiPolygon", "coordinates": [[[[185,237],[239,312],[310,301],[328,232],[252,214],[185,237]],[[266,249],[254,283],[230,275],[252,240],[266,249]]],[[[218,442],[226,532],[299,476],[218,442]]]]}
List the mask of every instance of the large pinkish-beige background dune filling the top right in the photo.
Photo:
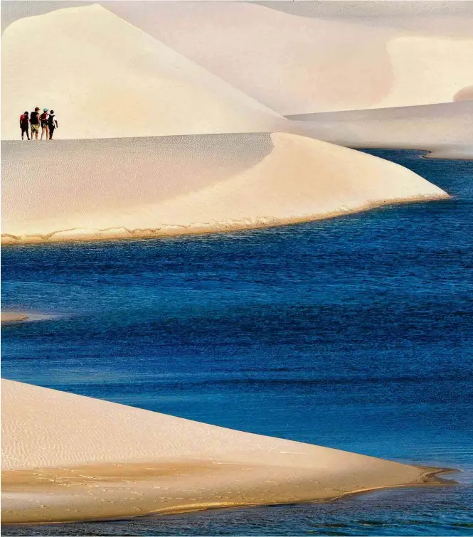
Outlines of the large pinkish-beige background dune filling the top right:
{"type": "Polygon", "coordinates": [[[104,5],[284,115],[451,102],[473,83],[473,4],[376,16],[373,2],[277,4],[296,14],[238,1],[104,5]]]}

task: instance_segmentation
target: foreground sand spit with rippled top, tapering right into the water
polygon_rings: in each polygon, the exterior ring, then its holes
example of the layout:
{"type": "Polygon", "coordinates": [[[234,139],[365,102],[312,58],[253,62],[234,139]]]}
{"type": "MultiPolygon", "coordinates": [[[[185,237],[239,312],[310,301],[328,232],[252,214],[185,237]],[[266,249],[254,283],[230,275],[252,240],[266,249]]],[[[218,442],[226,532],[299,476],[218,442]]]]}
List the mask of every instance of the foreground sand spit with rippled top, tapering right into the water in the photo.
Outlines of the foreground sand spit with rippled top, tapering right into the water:
{"type": "Polygon", "coordinates": [[[253,435],[2,381],[2,521],[323,501],[439,484],[442,469],[253,435]]]}

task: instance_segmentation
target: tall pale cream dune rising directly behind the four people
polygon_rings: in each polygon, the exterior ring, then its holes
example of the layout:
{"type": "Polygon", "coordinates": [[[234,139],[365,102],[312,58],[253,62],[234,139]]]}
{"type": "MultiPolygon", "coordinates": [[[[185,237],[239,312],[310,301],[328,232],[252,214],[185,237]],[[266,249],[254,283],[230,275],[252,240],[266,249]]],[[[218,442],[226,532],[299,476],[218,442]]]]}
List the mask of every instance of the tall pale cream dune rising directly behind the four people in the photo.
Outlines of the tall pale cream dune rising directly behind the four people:
{"type": "Polygon", "coordinates": [[[55,110],[55,137],[274,130],[275,112],[93,5],[23,18],[2,38],[2,139],[18,118],[55,110]]]}

